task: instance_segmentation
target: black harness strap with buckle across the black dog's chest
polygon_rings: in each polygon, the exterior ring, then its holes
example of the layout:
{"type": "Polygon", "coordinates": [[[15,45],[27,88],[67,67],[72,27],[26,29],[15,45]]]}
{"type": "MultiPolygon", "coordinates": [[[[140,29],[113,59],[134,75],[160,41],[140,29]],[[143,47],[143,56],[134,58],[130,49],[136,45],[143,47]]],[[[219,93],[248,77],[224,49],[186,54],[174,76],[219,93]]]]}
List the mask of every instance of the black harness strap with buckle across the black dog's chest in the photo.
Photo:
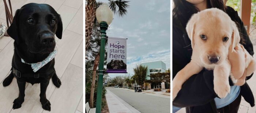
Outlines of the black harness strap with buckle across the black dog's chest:
{"type": "Polygon", "coordinates": [[[12,67],[12,73],[15,75],[15,77],[21,78],[21,77],[34,77],[34,78],[39,78],[39,77],[46,77],[49,74],[52,74],[55,72],[55,69],[50,69],[46,73],[20,73],[17,69],[12,67]],[[34,76],[33,76],[34,75],[34,76]]]}

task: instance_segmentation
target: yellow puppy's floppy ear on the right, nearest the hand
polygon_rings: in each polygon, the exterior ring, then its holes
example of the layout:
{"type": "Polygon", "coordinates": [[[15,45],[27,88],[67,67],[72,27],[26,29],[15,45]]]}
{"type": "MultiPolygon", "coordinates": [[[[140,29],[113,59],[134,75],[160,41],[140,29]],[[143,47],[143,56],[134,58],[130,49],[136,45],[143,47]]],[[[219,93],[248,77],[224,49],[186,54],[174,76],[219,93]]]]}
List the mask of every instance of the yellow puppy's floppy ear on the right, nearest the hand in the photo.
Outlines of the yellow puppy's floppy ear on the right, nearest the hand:
{"type": "Polygon", "coordinates": [[[232,27],[233,27],[233,32],[232,32],[232,40],[231,40],[230,46],[232,47],[231,49],[233,52],[233,51],[235,51],[234,48],[240,41],[240,35],[239,35],[239,31],[238,31],[236,23],[232,22],[232,27]]]}

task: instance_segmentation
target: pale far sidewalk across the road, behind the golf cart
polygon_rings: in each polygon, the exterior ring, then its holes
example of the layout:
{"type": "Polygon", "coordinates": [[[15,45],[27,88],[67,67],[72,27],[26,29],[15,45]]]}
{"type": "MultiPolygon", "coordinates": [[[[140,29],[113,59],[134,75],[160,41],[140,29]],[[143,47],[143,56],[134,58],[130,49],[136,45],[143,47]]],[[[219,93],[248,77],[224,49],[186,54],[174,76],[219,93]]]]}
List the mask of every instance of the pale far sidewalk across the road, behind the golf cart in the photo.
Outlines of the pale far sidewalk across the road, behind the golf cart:
{"type": "MultiPolygon", "coordinates": [[[[130,90],[132,92],[134,92],[134,89],[126,89],[126,88],[120,88],[120,89],[124,89],[124,90],[130,90]]],[[[151,96],[158,96],[158,97],[164,97],[164,98],[170,98],[170,93],[165,93],[160,91],[160,92],[154,92],[154,89],[150,89],[150,90],[144,90],[142,91],[143,94],[148,94],[151,96]]]]}

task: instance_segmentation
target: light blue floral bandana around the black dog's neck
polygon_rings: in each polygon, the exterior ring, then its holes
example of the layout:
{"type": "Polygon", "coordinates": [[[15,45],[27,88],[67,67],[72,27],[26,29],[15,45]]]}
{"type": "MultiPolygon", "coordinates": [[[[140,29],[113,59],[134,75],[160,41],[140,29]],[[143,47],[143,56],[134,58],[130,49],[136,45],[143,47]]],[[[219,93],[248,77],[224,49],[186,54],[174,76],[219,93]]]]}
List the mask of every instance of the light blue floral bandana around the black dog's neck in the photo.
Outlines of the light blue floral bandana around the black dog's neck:
{"type": "MultiPolygon", "coordinates": [[[[41,62],[30,64],[33,71],[37,72],[40,68],[45,66],[49,61],[51,61],[55,57],[56,53],[57,53],[57,49],[55,48],[54,51],[51,52],[47,58],[45,58],[45,60],[43,60],[41,62]]],[[[22,58],[21,58],[21,62],[23,62],[25,64],[29,64],[29,63],[26,63],[22,58]]]]}

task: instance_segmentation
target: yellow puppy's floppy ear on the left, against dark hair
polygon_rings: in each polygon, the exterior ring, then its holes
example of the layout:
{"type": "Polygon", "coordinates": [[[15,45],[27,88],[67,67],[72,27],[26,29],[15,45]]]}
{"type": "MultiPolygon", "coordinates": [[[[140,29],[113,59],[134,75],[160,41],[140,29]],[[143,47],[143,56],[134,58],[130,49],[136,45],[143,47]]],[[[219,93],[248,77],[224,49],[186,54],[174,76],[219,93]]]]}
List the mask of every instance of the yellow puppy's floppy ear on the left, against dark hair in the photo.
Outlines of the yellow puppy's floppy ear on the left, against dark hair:
{"type": "Polygon", "coordinates": [[[195,34],[195,27],[196,27],[196,17],[197,15],[193,15],[191,19],[187,23],[186,31],[188,33],[188,37],[191,40],[191,47],[193,48],[195,45],[194,41],[194,34],[195,34]]]}

